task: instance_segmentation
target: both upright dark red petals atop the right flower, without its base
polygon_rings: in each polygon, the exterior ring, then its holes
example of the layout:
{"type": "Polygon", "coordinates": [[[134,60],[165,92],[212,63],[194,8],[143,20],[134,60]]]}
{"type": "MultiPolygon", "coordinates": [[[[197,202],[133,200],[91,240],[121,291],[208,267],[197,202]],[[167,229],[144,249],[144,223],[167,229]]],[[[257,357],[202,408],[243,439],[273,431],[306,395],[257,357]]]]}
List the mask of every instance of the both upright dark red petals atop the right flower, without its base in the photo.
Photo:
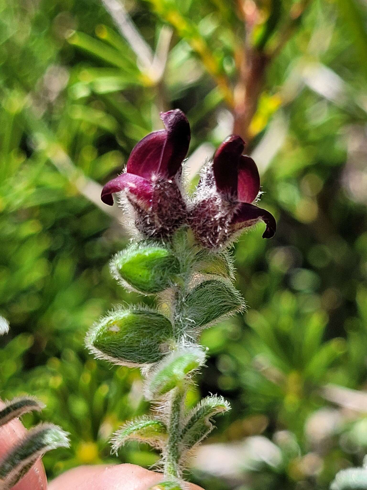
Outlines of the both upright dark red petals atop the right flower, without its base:
{"type": "Polygon", "coordinates": [[[215,152],[213,172],[219,192],[251,203],[260,190],[260,176],[252,158],[242,155],[244,148],[240,136],[229,136],[215,152]]]}

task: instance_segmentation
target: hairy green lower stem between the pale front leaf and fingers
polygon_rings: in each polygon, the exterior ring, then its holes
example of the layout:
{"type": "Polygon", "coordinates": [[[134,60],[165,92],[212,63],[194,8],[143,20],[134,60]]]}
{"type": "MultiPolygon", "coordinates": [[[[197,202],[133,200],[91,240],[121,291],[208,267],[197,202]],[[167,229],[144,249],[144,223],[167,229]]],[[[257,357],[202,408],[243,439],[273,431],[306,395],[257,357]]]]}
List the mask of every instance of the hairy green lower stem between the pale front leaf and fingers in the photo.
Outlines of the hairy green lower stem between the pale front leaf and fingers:
{"type": "Polygon", "coordinates": [[[179,468],[179,441],[185,395],[186,389],[184,385],[177,387],[171,395],[171,407],[168,425],[168,442],[164,462],[164,474],[165,476],[173,476],[175,478],[180,478],[181,476],[181,471],[179,468]]]}

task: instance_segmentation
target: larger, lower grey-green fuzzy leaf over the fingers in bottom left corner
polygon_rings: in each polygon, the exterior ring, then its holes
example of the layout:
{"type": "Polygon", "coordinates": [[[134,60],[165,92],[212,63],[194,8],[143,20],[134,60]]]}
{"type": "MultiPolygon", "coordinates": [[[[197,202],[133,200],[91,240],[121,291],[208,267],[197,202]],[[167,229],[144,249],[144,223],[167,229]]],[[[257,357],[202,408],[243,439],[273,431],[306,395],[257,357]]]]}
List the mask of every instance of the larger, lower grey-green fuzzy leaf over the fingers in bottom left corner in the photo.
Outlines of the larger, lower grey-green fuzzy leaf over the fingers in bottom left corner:
{"type": "Polygon", "coordinates": [[[39,424],[0,461],[1,490],[11,489],[47,451],[69,447],[68,434],[53,424],[39,424]]]}

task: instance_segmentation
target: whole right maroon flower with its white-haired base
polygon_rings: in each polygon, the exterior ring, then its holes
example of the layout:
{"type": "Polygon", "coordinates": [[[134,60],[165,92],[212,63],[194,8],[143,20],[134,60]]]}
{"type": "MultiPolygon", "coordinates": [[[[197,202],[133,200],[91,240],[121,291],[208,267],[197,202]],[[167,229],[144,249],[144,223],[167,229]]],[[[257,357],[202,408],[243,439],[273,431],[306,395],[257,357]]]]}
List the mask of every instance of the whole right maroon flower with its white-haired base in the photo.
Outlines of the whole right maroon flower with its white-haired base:
{"type": "Polygon", "coordinates": [[[207,248],[227,245],[243,228],[264,221],[263,238],[275,235],[274,216],[252,204],[260,191],[255,162],[242,155],[245,143],[229,136],[217,149],[213,164],[199,184],[190,213],[190,225],[198,241],[207,248]]]}

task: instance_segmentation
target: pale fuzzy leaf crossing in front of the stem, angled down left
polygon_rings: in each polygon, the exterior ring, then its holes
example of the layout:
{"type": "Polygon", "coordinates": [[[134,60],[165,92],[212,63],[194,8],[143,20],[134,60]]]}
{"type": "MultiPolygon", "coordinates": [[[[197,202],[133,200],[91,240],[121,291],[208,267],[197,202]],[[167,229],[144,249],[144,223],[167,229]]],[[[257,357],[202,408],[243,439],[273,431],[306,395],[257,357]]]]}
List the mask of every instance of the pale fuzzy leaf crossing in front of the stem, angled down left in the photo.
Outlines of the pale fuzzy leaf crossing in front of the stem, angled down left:
{"type": "Polygon", "coordinates": [[[152,400],[163,396],[184,382],[186,376],[205,362],[205,352],[199,346],[182,347],[168,354],[145,381],[145,396],[152,400]]]}

